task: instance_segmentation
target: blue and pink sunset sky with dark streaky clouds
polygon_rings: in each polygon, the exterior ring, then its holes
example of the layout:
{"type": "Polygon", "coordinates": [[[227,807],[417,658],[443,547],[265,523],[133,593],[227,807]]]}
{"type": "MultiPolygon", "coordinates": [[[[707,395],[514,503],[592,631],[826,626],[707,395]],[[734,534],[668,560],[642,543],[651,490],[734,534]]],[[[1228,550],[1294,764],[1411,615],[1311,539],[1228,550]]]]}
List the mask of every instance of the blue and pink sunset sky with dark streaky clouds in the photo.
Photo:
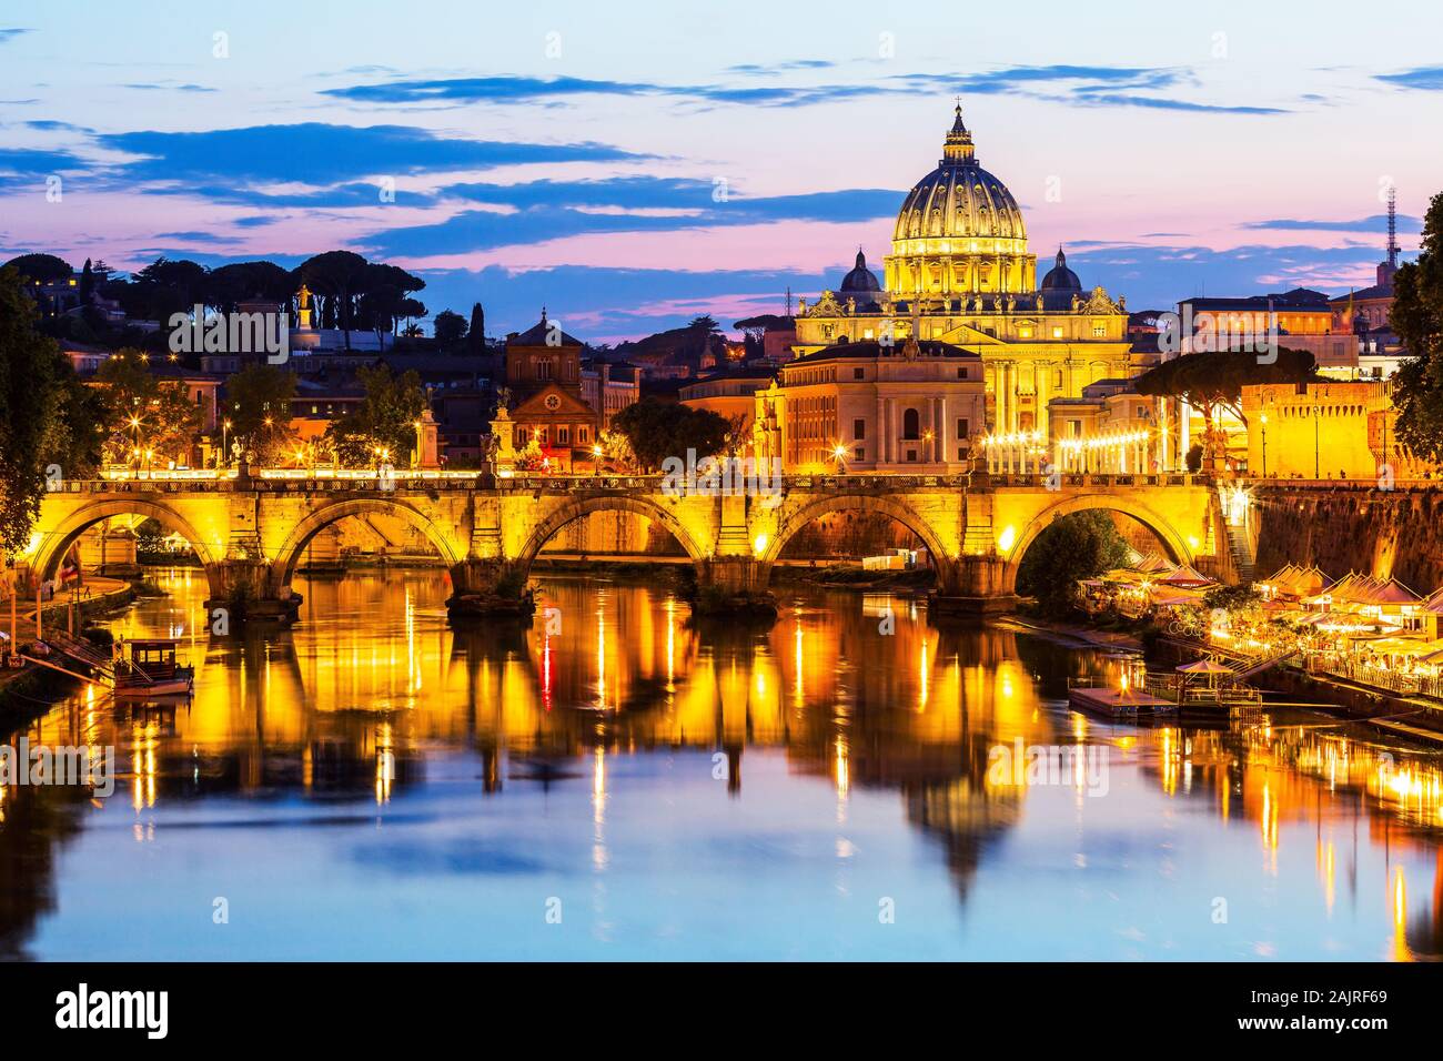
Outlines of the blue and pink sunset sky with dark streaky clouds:
{"type": "Polygon", "coordinates": [[[1433,3],[890,7],[10,4],[0,260],[346,247],[494,335],[730,326],[880,271],[957,95],[1039,274],[1133,309],[1367,286],[1382,189],[1405,251],[1443,191],[1433,3]]]}

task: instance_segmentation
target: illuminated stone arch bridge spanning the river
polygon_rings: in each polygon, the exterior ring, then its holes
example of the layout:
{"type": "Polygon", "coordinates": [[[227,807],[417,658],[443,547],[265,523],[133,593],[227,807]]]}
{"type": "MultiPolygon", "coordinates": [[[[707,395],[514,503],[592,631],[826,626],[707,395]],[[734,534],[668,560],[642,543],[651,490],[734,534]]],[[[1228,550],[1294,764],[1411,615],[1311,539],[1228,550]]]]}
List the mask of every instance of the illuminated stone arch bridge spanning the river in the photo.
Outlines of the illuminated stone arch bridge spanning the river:
{"type": "Polygon", "coordinates": [[[726,598],[765,590],[788,540],[812,520],[861,511],[892,517],[926,544],[938,608],[991,611],[1014,602],[1017,566],[1038,534],[1059,515],[1091,508],[1126,512],[1173,560],[1228,575],[1216,492],[1190,475],[784,476],[778,489],[750,495],[667,491],[661,476],[457,472],[72,481],[45,497],[25,559],[32,577],[45,580],[97,523],[153,517],[195,547],[212,605],[284,618],[307,543],[338,520],[381,512],[426,536],[450,572],[453,608],[465,608],[519,593],[541,547],[573,520],[629,511],[665,527],[696,564],[698,585],[726,598]]]}

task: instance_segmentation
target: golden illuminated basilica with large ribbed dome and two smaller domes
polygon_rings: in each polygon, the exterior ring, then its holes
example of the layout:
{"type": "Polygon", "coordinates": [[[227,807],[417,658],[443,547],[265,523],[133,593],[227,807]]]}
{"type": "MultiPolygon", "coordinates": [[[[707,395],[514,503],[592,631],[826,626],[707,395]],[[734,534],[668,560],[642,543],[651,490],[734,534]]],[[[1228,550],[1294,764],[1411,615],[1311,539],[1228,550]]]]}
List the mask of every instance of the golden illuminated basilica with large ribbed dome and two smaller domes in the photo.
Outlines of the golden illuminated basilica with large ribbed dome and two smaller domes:
{"type": "Polygon", "coordinates": [[[859,281],[860,254],[857,263],[838,292],[799,303],[798,355],[867,341],[893,341],[900,352],[909,336],[978,354],[997,433],[1046,435],[1052,398],[1140,371],[1121,299],[1085,292],[1061,250],[1038,283],[1017,201],[977,163],[961,107],[937,169],[902,204],[885,283],[859,281]]]}

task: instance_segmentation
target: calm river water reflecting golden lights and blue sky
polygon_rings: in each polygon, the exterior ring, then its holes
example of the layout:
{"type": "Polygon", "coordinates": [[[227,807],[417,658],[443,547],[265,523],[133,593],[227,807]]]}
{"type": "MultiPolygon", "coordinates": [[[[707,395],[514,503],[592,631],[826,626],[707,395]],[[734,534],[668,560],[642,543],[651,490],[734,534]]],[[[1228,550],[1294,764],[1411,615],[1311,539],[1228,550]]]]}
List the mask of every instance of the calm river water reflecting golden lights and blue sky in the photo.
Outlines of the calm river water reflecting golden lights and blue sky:
{"type": "Polygon", "coordinates": [[[547,577],[560,629],[457,634],[439,575],[352,573],[224,642],[203,579],[160,580],[111,625],[179,634],[195,700],[82,691],[25,730],[114,743],[120,777],[3,791],[0,954],[1443,951],[1437,754],[1317,713],[1102,723],[1066,680],[1118,658],[906,596],[784,590],[771,631],[694,631],[662,579],[547,577]]]}

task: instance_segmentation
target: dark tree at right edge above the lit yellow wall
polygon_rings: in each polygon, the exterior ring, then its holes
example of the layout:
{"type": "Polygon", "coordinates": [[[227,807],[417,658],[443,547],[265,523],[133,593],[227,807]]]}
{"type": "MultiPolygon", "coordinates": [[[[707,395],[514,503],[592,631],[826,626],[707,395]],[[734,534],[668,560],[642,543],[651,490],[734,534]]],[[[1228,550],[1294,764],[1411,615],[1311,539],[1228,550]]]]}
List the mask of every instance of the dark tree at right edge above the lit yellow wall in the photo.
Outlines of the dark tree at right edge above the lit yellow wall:
{"type": "Polygon", "coordinates": [[[1423,219],[1418,260],[1392,277],[1390,323],[1410,355],[1392,381],[1398,440],[1424,459],[1443,460],[1443,192],[1423,219]]]}

